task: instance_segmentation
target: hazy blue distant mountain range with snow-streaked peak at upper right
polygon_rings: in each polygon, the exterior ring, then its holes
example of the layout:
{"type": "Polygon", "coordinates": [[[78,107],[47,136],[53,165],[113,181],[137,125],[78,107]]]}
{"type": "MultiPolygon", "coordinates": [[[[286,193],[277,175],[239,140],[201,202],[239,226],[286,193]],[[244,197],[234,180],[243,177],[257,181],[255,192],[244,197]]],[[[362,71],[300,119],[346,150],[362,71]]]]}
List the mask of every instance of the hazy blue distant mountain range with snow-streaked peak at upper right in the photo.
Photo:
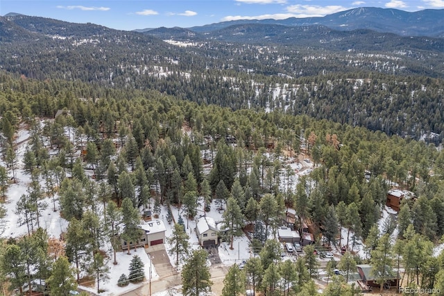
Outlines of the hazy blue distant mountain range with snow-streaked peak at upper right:
{"type": "MultiPolygon", "coordinates": [[[[239,24],[278,24],[282,26],[322,25],[339,31],[368,29],[383,33],[395,33],[402,36],[444,37],[444,9],[420,10],[409,13],[393,8],[361,7],[333,13],[325,17],[305,17],[288,19],[240,19],[230,22],[219,22],[205,26],[188,28],[196,33],[218,31],[221,28],[239,24]]],[[[139,32],[152,29],[137,30],[139,32]]]]}

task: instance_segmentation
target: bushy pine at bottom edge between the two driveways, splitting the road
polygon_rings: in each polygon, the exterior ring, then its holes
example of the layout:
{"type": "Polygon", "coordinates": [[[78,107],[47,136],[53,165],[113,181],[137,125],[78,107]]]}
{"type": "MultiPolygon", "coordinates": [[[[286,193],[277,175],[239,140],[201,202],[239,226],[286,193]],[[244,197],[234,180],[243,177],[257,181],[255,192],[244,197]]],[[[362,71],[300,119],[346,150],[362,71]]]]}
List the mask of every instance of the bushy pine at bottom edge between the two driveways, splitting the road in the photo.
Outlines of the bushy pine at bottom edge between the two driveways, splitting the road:
{"type": "Polygon", "coordinates": [[[199,296],[211,291],[210,268],[207,266],[207,252],[197,249],[187,258],[182,269],[182,293],[185,296],[199,296]]]}

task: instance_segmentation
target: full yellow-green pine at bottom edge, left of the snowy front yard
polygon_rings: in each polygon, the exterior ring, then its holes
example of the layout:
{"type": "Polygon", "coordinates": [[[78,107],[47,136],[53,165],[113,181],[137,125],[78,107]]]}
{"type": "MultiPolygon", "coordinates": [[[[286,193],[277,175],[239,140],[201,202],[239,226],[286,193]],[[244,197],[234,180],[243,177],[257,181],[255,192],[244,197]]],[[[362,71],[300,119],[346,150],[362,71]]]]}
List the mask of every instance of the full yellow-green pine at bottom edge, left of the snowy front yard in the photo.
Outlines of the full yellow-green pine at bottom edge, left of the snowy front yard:
{"type": "Polygon", "coordinates": [[[60,256],[53,263],[51,277],[48,279],[50,295],[69,296],[69,291],[77,289],[74,269],[69,265],[68,258],[60,256]]]}

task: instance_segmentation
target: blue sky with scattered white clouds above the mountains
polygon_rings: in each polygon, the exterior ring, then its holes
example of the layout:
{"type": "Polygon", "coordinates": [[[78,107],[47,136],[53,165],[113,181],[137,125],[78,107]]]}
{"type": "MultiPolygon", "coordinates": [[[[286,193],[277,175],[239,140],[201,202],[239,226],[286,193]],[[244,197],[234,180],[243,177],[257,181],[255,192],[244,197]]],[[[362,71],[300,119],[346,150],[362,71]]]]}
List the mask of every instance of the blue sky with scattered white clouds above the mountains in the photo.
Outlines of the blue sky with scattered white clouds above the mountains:
{"type": "Polygon", "coordinates": [[[1,0],[0,15],[21,13],[130,31],[234,19],[320,17],[357,7],[418,11],[444,8],[444,0],[1,0]]]}

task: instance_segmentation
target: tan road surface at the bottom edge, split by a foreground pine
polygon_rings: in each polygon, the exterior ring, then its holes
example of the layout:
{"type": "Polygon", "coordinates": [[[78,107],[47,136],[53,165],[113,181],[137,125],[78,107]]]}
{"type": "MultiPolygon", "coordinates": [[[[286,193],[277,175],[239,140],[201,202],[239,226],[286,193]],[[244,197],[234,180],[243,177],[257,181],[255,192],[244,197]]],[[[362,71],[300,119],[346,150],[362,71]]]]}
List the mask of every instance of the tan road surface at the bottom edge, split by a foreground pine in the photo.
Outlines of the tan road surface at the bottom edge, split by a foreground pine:
{"type": "MultiPolygon", "coordinates": [[[[228,268],[224,265],[212,265],[210,268],[211,280],[213,281],[212,290],[216,295],[221,295],[223,288],[223,279],[227,274],[228,268]]],[[[151,294],[168,290],[169,288],[176,287],[182,283],[180,274],[173,274],[169,277],[164,277],[158,281],[151,282],[151,294]]],[[[144,286],[137,288],[131,292],[123,294],[123,296],[146,296],[150,295],[149,283],[145,282],[144,286]]]]}

